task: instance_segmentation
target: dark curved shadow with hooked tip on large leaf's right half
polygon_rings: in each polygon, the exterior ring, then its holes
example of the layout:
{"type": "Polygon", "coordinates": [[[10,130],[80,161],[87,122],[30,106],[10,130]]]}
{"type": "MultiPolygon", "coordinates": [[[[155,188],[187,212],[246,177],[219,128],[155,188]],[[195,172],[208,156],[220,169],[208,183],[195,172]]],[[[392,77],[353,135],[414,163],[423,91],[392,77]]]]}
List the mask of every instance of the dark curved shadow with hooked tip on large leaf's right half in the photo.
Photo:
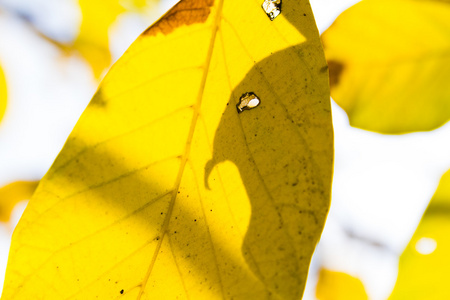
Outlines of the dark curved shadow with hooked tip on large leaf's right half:
{"type": "Polygon", "coordinates": [[[222,162],[237,166],[251,206],[246,262],[270,293],[300,299],[329,207],[333,131],[328,68],[317,55],[322,50],[317,37],[307,35],[311,24],[299,18],[306,13],[285,6],[285,17],[307,40],[255,63],[234,88],[204,179],[209,188],[222,162]],[[261,103],[238,113],[248,92],[261,103]]]}

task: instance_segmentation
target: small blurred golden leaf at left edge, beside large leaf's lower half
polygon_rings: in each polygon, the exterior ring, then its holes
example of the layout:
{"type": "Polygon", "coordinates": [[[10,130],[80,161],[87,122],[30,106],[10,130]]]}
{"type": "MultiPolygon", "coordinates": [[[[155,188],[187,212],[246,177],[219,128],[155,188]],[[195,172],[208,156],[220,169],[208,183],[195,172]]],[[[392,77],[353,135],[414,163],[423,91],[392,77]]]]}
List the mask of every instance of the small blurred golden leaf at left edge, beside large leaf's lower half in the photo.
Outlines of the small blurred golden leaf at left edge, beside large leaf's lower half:
{"type": "Polygon", "coordinates": [[[29,200],[39,181],[16,181],[0,188],[0,222],[8,222],[17,203],[29,200]]]}

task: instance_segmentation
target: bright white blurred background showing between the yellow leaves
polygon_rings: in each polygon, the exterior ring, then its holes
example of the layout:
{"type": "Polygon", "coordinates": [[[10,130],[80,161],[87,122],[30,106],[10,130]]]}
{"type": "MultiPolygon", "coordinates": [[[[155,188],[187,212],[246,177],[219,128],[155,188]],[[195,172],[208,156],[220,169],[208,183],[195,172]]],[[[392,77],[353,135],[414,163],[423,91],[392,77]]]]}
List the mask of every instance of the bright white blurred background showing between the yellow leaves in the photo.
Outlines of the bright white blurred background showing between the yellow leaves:
{"type": "MultiPolygon", "coordinates": [[[[175,2],[162,1],[155,16],[175,2]]],[[[320,32],[356,2],[311,0],[320,32]]],[[[60,41],[74,39],[81,22],[76,0],[0,0],[0,65],[8,81],[8,108],[0,123],[0,186],[45,174],[98,85],[81,58],[65,56],[36,36],[17,12],[60,41]]],[[[133,14],[120,17],[110,30],[114,59],[153,21],[133,14]]],[[[398,257],[440,176],[450,168],[450,124],[387,136],[350,127],[345,112],[334,103],[332,108],[332,205],[304,299],[315,299],[322,266],[360,278],[370,299],[386,299],[398,257]]],[[[25,206],[14,211],[12,224],[25,206]]],[[[0,226],[0,287],[11,234],[0,226]]]]}

